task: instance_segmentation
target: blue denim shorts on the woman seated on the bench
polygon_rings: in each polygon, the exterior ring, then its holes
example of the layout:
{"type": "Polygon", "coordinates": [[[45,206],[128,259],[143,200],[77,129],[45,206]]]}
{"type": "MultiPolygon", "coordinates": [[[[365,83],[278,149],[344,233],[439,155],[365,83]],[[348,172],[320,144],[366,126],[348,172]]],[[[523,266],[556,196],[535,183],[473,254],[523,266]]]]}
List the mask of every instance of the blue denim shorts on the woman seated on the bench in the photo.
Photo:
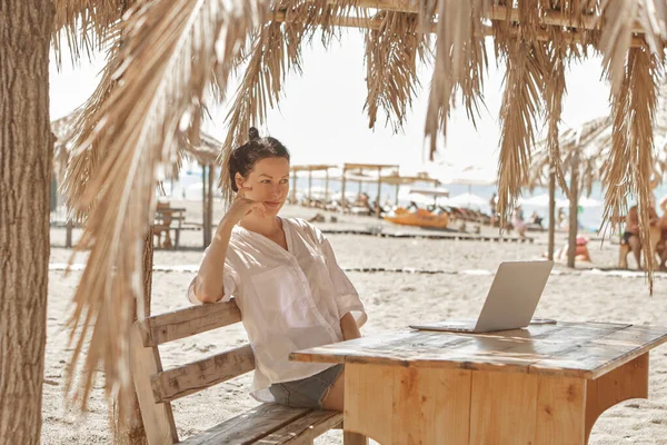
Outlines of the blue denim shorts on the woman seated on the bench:
{"type": "Polygon", "coordinates": [[[269,386],[269,390],[279,405],[322,409],[322,400],[342,369],[344,365],[335,365],[300,380],[275,383],[269,386]]]}

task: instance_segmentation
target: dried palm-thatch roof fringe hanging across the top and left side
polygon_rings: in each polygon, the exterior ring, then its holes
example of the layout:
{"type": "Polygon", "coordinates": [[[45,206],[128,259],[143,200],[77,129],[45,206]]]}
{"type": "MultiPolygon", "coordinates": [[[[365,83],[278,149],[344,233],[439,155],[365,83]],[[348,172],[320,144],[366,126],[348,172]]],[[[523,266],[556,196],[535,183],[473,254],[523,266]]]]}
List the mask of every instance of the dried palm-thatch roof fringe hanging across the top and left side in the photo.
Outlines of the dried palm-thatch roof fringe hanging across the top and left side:
{"type": "MultiPolygon", "coordinates": [[[[212,89],[221,100],[230,72],[239,67],[242,79],[225,147],[245,141],[249,126],[262,123],[267,109],[280,99],[286,72],[300,69],[301,46],[318,29],[325,47],[340,26],[366,30],[371,127],[384,109],[400,128],[415,95],[417,67],[432,60],[425,127],[431,150],[446,135],[457,97],[476,118],[488,67],[485,37],[492,37],[497,60],[506,66],[501,214],[509,211],[529,176],[530,147],[542,117],[551,158],[560,158],[565,67],[600,52],[613,87],[607,209],[619,211],[626,195],[635,191],[641,237],[648,239],[651,123],[667,41],[665,0],[157,0],[138,2],[122,26],[113,27],[129,4],[57,2],[57,23],[69,30],[70,41],[84,49],[89,40],[106,39],[110,48],[108,69],[76,137],[82,158],[70,162],[70,177],[81,182],[67,190],[82,211],[98,204],[79,244],[92,251],[74,297],[73,325],[87,323],[82,314],[97,320],[86,367],[103,367],[109,390],[117,384],[128,387],[127,360],[118,356],[127,352],[133,298],[142,298],[132,284],[141,283],[135,277],[142,266],[140,246],[153,210],[153,185],[163,166],[178,158],[173,141],[199,138],[205,91],[212,89]],[[94,39],[81,39],[81,23],[94,39]],[[426,38],[431,33],[436,39],[426,38]]],[[[653,256],[647,266],[653,269],[653,256]]],[[[90,384],[84,382],[84,388],[90,384]]]]}

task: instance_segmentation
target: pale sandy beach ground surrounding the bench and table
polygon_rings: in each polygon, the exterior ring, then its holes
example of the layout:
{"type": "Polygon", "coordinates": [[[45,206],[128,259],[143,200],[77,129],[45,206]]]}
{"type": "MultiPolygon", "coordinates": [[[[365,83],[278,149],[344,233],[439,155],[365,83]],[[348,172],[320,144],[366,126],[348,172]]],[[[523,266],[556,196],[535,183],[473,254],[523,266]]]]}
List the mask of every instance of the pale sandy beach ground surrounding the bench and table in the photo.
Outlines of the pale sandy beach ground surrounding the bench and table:
{"type": "MultiPolygon", "coordinates": [[[[187,221],[201,221],[199,202],[172,202],[187,208],[187,221]]],[[[215,221],[221,216],[216,204],[215,221]]],[[[310,218],[317,210],[286,207],[286,217],[310,218]]],[[[338,222],[318,224],[323,230],[378,229],[397,233],[396,226],[374,218],[338,216],[338,222]]],[[[432,234],[424,230],[425,234],[432,234]]],[[[492,234],[490,229],[485,234],[492,234]]],[[[79,231],[74,231],[74,239],[79,231]]],[[[502,260],[537,259],[547,249],[546,233],[529,233],[534,243],[490,243],[476,240],[381,238],[377,236],[331,234],[339,264],[356,285],[366,309],[368,323],[364,335],[406,328],[415,322],[476,317],[492,275],[502,260]],[[372,269],[362,271],[361,269],[372,269]],[[409,269],[409,270],[408,270],[409,269]]],[[[185,230],[181,249],[156,250],[152,313],[183,307],[186,289],[199,264],[202,234],[185,230]],[[181,266],[180,270],[175,267],[181,266]]],[[[565,243],[558,234],[557,247],[565,243]]],[[[64,230],[51,230],[52,270],[49,274],[47,352],[43,392],[44,444],[110,443],[108,408],[101,384],[96,385],[89,413],[80,415],[63,398],[64,368],[71,349],[66,322],[71,299],[81,277],[80,271],[64,275],[71,249],[64,245],[64,230]]],[[[563,322],[616,322],[667,326],[667,274],[656,274],[654,296],[648,294],[644,276],[617,271],[618,246],[606,241],[589,245],[593,264],[567,269],[557,265],[547,284],[537,317],[563,322]]],[[[74,259],[82,265],[86,255],[74,259]]],[[[634,261],[630,260],[630,267],[634,261]]],[[[246,340],[242,327],[218,329],[173,342],[161,348],[166,367],[217,354],[246,340]]],[[[667,345],[650,354],[649,399],[628,400],[606,412],[595,425],[591,444],[667,444],[667,345]]],[[[250,374],[220,384],[172,404],[178,433],[187,437],[255,406],[248,395],[250,374]]],[[[329,432],[317,444],[340,444],[341,433],[329,432]]]]}

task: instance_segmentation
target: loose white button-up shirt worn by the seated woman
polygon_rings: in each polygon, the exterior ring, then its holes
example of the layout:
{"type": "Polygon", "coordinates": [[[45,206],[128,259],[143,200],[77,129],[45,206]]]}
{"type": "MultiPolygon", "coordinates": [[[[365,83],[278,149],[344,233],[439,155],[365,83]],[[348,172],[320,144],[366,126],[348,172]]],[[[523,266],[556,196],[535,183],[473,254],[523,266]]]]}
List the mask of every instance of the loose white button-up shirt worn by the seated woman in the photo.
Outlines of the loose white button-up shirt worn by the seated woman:
{"type": "MultiPolygon", "coordinates": [[[[358,326],[367,319],[322,233],[302,219],[281,221],[287,250],[236,226],[225,259],[222,300],[233,296],[241,312],[255,353],[251,394],[262,402],[273,399],[266,389],[271,384],[310,377],[332,366],[290,362],[290,353],[344,340],[340,319],[347,313],[358,326]]],[[[200,304],[193,283],[188,298],[200,304]]]]}

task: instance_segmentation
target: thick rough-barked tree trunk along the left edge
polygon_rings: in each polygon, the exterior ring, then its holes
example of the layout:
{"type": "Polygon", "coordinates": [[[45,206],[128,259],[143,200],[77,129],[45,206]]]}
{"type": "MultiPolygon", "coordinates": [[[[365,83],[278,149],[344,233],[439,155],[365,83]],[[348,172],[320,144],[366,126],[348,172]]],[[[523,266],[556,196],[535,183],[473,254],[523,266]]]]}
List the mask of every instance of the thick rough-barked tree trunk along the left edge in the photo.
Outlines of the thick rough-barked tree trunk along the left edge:
{"type": "Polygon", "coordinates": [[[0,0],[0,443],[39,444],[53,136],[51,0],[0,0]]]}

